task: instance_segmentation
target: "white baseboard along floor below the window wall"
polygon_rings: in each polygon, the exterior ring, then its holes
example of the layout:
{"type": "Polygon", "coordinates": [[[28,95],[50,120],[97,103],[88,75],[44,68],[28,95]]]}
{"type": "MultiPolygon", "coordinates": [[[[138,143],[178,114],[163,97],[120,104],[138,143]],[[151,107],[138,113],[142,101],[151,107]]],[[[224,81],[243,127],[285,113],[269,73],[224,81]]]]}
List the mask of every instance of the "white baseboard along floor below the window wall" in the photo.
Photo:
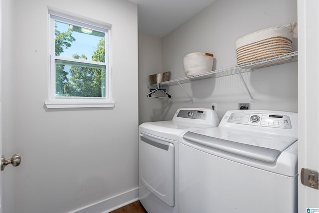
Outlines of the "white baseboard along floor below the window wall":
{"type": "Polygon", "coordinates": [[[139,200],[139,188],[135,188],[116,195],[114,197],[105,199],[103,201],[90,204],[78,210],[69,213],[109,213],[118,208],[124,207],[139,200]]]}

